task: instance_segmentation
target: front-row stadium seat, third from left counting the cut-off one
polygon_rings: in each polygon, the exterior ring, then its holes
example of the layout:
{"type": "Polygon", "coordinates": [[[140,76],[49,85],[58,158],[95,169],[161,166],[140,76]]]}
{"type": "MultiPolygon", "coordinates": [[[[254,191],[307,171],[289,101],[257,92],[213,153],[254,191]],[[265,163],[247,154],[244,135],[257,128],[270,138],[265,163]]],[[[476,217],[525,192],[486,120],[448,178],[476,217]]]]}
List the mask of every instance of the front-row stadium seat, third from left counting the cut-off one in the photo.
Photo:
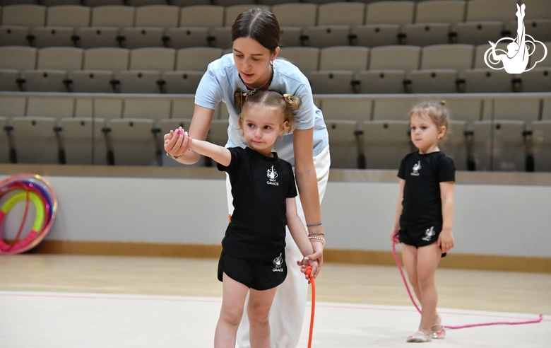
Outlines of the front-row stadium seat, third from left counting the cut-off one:
{"type": "Polygon", "coordinates": [[[60,136],[66,164],[107,165],[105,120],[92,117],[69,117],[60,121],[60,136]]]}

